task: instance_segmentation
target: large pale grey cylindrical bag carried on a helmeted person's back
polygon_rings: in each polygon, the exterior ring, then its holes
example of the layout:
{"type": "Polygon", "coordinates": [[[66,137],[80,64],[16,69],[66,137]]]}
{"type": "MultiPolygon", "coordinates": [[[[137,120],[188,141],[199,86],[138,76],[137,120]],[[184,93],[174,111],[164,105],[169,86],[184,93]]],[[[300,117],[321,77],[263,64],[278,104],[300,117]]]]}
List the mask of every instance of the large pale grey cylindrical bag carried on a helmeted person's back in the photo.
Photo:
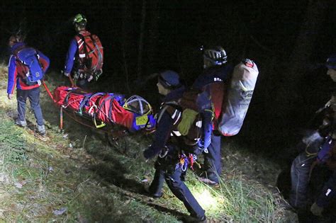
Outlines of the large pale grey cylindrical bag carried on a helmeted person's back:
{"type": "Polygon", "coordinates": [[[230,86],[223,101],[218,130],[225,136],[237,135],[249,108],[259,71],[250,59],[244,59],[233,69],[230,86]]]}

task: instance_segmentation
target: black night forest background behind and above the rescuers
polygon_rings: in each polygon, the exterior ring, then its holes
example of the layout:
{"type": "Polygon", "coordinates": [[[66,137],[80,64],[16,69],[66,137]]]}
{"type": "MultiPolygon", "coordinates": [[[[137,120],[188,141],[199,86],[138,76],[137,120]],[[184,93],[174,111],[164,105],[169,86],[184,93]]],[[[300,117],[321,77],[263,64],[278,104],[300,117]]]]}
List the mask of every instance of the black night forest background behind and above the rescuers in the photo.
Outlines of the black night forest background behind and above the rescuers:
{"type": "Polygon", "coordinates": [[[7,40],[21,23],[28,45],[50,57],[50,71],[60,72],[75,34],[71,18],[83,13],[104,47],[97,88],[156,104],[150,74],[174,69],[191,84],[202,69],[199,47],[223,45],[230,63],[249,57],[259,67],[237,137],[274,156],[296,142],[330,98],[333,85],[322,65],[336,52],[335,6],[335,0],[1,1],[1,57],[7,60],[7,40]]]}

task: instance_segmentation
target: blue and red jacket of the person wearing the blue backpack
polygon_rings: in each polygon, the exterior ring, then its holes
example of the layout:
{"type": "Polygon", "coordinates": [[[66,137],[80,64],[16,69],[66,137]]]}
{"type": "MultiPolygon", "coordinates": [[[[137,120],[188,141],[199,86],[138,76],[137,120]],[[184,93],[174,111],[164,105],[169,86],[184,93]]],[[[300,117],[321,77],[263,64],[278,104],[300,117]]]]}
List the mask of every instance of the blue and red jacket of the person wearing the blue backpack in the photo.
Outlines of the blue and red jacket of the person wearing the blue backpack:
{"type": "MultiPolygon", "coordinates": [[[[18,48],[24,47],[24,46],[26,46],[26,43],[17,42],[16,44],[13,45],[13,47],[11,47],[11,57],[9,57],[9,79],[7,83],[7,93],[9,94],[13,94],[15,86],[16,88],[22,89],[22,90],[29,90],[33,88],[38,88],[40,86],[38,84],[35,84],[33,86],[28,86],[18,76],[18,69],[16,67],[16,57],[13,54],[16,50],[18,50],[18,48]]],[[[38,52],[38,55],[39,55],[38,60],[40,64],[42,64],[43,72],[47,72],[47,69],[50,64],[50,59],[47,56],[43,55],[42,52],[38,50],[36,50],[36,52],[38,52]]]]}

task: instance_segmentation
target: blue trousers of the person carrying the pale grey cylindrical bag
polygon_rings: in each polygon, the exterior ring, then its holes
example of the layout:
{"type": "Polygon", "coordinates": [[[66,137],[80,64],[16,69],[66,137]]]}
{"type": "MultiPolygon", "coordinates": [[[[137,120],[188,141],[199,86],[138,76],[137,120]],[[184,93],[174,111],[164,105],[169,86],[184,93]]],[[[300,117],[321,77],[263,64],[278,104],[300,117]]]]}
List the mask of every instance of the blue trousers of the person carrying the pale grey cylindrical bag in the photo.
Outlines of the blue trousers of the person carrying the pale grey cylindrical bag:
{"type": "Polygon", "coordinates": [[[208,153],[204,153],[204,169],[209,180],[219,183],[218,176],[222,172],[220,156],[220,135],[211,135],[208,153]]]}

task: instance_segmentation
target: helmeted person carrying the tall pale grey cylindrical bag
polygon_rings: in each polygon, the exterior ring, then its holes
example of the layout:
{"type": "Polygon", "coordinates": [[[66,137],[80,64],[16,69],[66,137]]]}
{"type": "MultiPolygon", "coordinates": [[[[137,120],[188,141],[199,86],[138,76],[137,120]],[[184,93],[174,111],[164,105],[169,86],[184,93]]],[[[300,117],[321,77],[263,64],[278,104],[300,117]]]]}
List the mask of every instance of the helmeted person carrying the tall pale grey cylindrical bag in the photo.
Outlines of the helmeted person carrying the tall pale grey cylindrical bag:
{"type": "Polygon", "coordinates": [[[203,50],[203,74],[198,76],[192,88],[200,91],[208,91],[211,94],[211,100],[215,108],[215,117],[213,119],[213,134],[211,135],[211,144],[204,155],[204,173],[199,178],[203,183],[218,186],[219,176],[222,171],[220,155],[220,132],[217,131],[218,118],[222,110],[223,97],[225,94],[225,82],[230,80],[230,74],[233,67],[228,65],[228,56],[221,46],[210,47],[203,50]]]}

